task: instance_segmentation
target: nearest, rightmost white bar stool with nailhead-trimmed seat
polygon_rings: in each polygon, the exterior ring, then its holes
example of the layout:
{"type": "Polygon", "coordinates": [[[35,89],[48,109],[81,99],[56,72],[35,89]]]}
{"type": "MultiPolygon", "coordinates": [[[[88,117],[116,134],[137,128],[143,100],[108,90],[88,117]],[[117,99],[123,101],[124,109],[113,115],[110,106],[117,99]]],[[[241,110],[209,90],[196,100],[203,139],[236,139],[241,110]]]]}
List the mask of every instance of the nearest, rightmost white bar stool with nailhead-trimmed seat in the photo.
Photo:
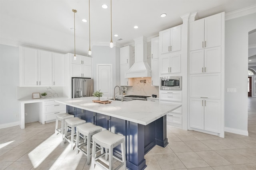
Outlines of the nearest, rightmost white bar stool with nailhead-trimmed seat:
{"type": "MultiPolygon", "coordinates": [[[[115,170],[119,169],[124,165],[124,169],[126,170],[126,153],[125,153],[125,137],[112,133],[108,130],[101,131],[92,136],[92,168],[95,168],[97,164],[101,168],[112,170],[113,169],[113,158],[122,162],[115,170]],[[106,152],[101,152],[99,156],[96,156],[96,144],[100,145],[100,147],[105,148],[106,152]],[[122,160],[113,155],[113,148],[121,145],[122,151],[122,160]],[[108,152],[108,153],[107,153],[108,152]],[[108,168],[102,164],[101,160],[98,160],[104,155],[108,154],[108,168]]],[[[103,150],[103,149],[102,149],[103,150]]]]}

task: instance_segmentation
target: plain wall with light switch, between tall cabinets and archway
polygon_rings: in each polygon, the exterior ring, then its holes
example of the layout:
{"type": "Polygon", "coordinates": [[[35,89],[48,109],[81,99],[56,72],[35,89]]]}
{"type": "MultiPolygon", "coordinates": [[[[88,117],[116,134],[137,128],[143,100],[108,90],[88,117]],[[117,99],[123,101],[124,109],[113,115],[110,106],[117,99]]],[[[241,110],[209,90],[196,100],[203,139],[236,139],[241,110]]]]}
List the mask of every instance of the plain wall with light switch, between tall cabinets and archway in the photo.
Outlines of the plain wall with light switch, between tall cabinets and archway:
{"type": "Polygon", "coordinates": [[[247,132],[248,32],[256,28],[256,13],[226,21],[225,28],[225,129],[247,132]]]}

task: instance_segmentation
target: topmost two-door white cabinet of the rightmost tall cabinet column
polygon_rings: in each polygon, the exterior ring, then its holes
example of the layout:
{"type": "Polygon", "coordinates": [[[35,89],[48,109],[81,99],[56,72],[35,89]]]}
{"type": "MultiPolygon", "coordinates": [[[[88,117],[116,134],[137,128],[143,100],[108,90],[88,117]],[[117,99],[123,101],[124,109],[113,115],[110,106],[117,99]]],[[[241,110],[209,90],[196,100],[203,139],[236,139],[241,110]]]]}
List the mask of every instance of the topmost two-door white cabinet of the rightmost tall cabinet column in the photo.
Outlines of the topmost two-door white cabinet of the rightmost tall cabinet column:
{"type": "Polygon", "coordinates": [[[190,23],[190,51],[221,45],[221,14],[190,23]]]}

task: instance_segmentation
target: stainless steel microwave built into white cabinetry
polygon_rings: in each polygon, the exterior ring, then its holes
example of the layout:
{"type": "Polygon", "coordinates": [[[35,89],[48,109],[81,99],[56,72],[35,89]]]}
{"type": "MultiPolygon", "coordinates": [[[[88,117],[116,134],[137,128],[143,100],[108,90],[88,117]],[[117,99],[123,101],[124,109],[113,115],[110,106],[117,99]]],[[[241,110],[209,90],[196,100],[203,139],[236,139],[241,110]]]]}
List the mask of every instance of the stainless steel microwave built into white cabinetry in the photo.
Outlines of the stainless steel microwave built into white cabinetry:
{"type": "Polygon", "coordinates": [[[160,90],[182,90],[181,76],[160,77],[160,90]]]}

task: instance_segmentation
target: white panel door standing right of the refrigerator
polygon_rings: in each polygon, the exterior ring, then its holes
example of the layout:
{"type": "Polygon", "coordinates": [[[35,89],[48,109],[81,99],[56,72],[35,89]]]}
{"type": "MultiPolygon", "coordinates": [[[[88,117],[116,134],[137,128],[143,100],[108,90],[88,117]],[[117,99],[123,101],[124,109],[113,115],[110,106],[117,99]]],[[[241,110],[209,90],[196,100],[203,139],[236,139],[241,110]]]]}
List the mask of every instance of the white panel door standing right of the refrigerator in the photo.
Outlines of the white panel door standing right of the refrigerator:
{"type": "Polygon", "coordinates": [[[103,96],[112,96],[112,64],[97,64],[97,90],[103,92],[103,96]]]}

